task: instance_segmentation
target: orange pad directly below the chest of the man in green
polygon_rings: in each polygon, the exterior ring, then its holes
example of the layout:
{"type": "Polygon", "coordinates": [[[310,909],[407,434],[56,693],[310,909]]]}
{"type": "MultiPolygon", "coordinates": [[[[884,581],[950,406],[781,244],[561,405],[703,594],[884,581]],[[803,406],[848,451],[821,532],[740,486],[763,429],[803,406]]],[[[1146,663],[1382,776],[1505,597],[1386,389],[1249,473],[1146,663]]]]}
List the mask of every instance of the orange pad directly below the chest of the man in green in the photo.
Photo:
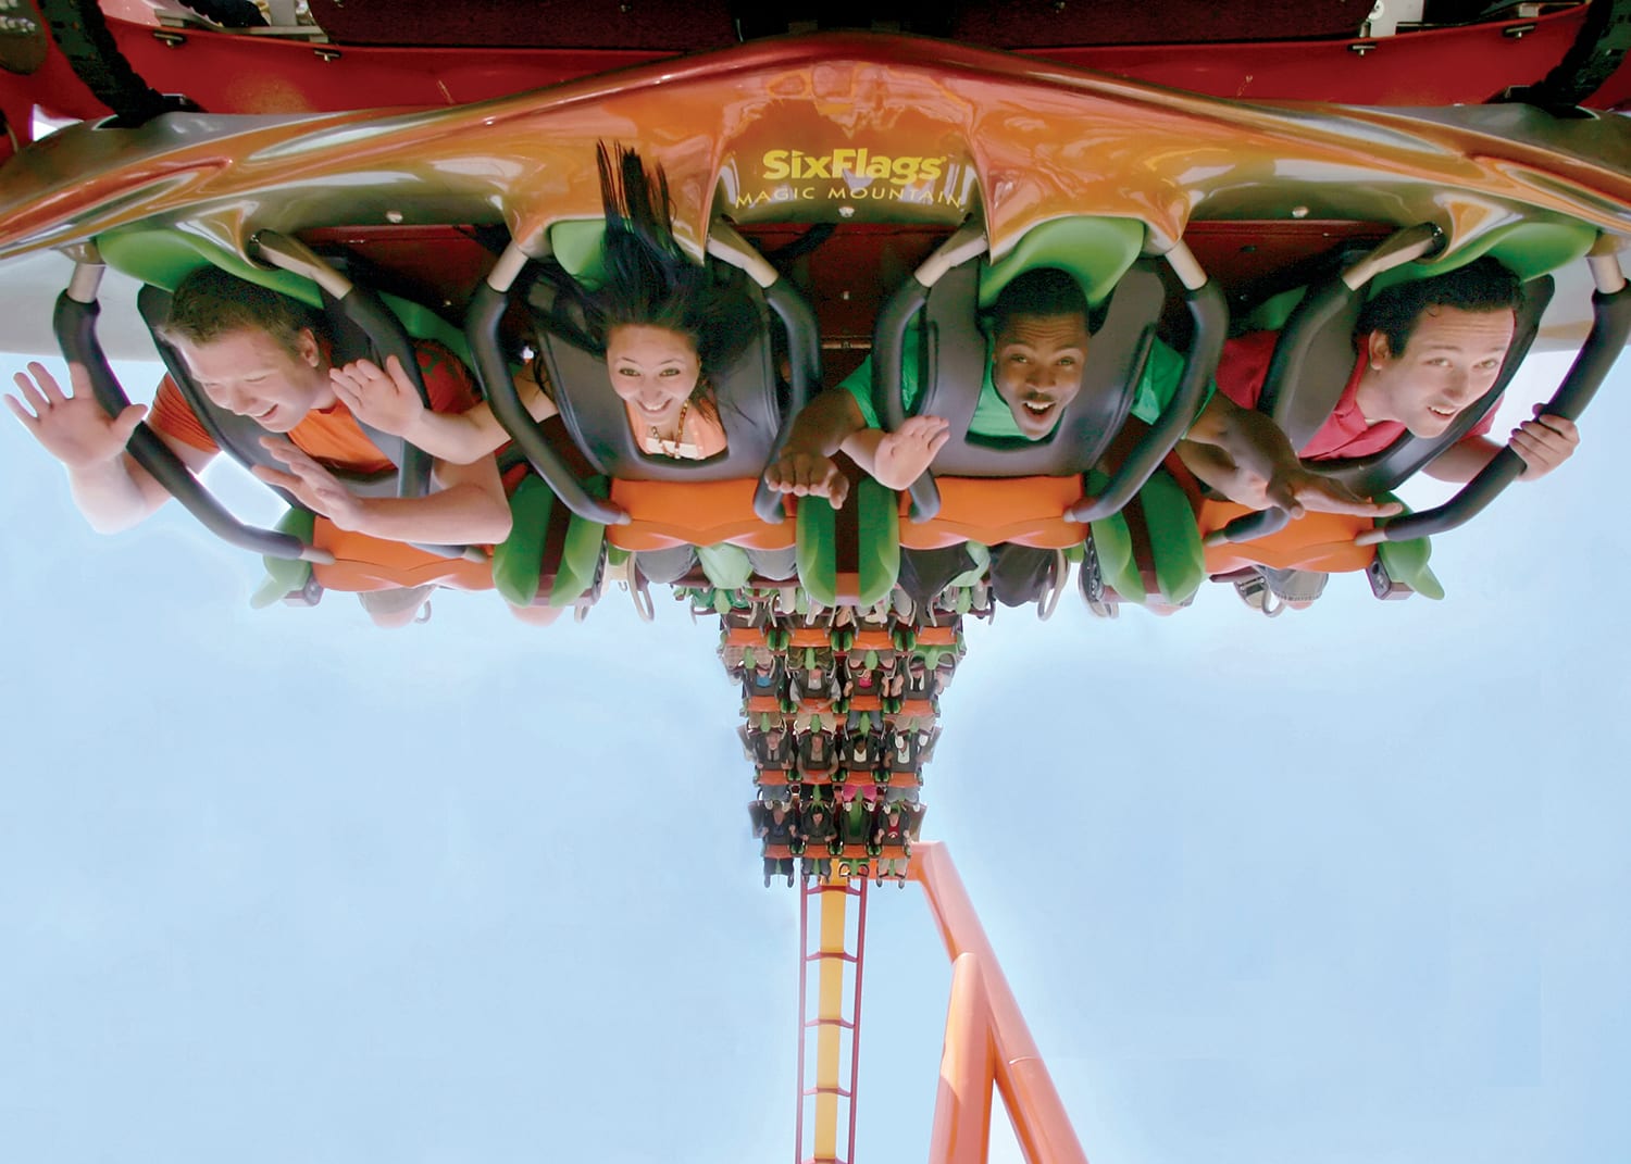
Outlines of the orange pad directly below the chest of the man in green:
{"type": "MultiPolygon", "coordinates": [[[[1065,509],[1081,500],[1081,478],[938,478],[939,514],[928,522],[902,522],[900,545],[941,549],[964,541],[995,546],[1013,541],[1037,549],[1063,549],[1088,530],[1067,522],[1065,509]]],[[[907,515],[910,499],[900,499],[907,515]]]]}

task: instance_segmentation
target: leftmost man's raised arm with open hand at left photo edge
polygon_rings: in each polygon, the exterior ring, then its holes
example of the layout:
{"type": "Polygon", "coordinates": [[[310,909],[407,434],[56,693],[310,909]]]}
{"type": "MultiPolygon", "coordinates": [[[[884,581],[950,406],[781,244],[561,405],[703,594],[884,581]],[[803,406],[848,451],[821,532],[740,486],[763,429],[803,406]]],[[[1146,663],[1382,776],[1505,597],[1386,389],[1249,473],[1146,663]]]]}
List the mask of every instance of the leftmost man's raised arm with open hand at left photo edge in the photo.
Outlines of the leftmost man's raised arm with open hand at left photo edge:
{"type": "MultiPolygon", "coordinates": [[[[91,395],[90,373],[82,365],[69,365],[72,395],[62,391],[42,364],[29,364],[28,370],[33,380],[21,372],[13,377],[21,399],[8,395],[7,406],[34,440],[67,468],[73,504],[93,530],[129,530],[170,499],[170,491],[124,452],[135,425],[147,416],[145,404],[130,404],[111,417],[91,395]]],[[[214,456],[165,434],[160,439],[194,473],[214,456]]]]}

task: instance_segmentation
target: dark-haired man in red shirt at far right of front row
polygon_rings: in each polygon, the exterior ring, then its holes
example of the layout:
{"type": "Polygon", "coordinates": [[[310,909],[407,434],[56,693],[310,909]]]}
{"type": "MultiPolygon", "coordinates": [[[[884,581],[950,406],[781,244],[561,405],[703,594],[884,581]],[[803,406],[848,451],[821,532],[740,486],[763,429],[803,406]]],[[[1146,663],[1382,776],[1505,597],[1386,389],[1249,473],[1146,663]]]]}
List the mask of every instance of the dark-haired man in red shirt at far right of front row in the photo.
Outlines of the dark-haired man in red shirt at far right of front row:
{"type": "MultiPolygon", "coordinates": [[[[1391,445],[1404,432],[1442,435],[1460,412],[1489,391],[1517,326],[1522,298],[1517,276],[1496,259],[1476,259],[1432,279],[1399,284],[1365,305],[1355,331],[1357,357],[1331,417],[1295,450],[1305,460],[1350,460],[1391,445]]],[[[1241,409],[1254,409],[1274,355],[1277,334],[1259,331],[1228,341],[1217,370],[1218,391],[1241,409]]],[[[1579,445],[1571,421],[1541,414],[1512,430],[1523,458],[1520,479],[1535,481],[1579,445]]],[[[1489,440],[1494,416],[1427,465],[1440,481],[1471,481],[1502,445],[1489,440]]],[[[1285,445],[1287,453],[1290,443],[1285,445]]],[[[1184,463],[1202,481],[1243,505],[1266,507],[1261,476],[1241,470],[1217,445],[1179,445],[1184,463]]]]}

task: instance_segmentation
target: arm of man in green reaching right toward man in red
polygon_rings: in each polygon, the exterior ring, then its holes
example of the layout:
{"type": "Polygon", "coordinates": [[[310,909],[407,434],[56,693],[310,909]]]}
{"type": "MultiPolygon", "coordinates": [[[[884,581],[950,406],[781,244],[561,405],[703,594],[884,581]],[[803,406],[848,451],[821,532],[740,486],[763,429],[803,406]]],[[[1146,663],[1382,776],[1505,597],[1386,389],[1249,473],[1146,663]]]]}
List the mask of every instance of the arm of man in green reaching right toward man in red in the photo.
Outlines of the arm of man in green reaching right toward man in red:
{"type": "Polygon", "coordinates": [[[1373,502],[1321,473],[1303,468],[1272,417],[1241,408],[1223,393],[1196,417],[1178,455],[1197,478],[1230,500],[1254,509],[1279,505],[1292,517],[1305,510],[1388,517],[1398,502],[1373,502]]]}

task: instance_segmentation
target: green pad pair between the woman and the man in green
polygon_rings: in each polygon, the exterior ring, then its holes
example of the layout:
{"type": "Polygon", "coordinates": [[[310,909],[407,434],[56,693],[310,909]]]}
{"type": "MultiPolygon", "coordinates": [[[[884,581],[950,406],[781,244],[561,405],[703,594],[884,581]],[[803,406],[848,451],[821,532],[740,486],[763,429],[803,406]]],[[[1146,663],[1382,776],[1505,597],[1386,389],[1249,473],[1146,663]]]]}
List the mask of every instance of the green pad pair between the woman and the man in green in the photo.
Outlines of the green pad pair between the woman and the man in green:
{"type": "Polygon", "coordinates": [[[873,606],[900,577],[900,518],[894,491],[871,478],[861,478],[850,489],[845,514],[835,512],[820,497],[806,497],[798,505],[799,584],[824,606],[840,603],[873,606]],[[855,545],[840,538],[848,528],[842,520],[853,507],[855,545]]]}

